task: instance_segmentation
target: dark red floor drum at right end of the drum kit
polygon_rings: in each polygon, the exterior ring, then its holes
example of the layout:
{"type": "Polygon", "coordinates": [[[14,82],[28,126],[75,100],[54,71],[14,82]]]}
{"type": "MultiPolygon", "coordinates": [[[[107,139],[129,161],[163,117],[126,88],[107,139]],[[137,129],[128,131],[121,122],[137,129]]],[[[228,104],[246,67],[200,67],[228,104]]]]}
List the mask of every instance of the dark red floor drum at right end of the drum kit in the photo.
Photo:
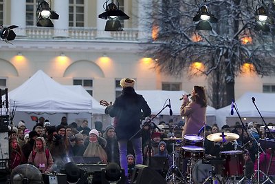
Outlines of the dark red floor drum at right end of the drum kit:
{"type": "Polygon", "coordinates": [[[242,151],[232,150],[228,152],[220,152],[219,154],[222,159],[225,159],[221,176],[225,178],[243,176],[244,161],[242,151]]]}

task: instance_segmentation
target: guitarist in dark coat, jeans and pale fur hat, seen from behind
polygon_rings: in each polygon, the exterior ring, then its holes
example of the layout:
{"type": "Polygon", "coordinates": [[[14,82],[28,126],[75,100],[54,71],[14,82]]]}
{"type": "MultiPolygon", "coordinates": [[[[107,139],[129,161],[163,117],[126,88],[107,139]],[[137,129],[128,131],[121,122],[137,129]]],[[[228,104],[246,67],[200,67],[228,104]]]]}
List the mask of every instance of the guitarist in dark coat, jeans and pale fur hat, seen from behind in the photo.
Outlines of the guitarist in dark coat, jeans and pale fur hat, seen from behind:
{"type": "Polygon", "coordinates": [[[121,79],[120,86],[122,94],[115,98],[113,105],[108,105],[105,114],[115,117],[115,134],[118,139],[118,147],[120,150],[120,167],[124,169],[125,175],[128,177],[127,168],[127,144],[131,139],[133,150],[135,152],[135,164],[142,164],[142,138],[140,131],[141,120],[151,115],[144,97],[137,94],[134,90],[134,79],[121,79]]]}

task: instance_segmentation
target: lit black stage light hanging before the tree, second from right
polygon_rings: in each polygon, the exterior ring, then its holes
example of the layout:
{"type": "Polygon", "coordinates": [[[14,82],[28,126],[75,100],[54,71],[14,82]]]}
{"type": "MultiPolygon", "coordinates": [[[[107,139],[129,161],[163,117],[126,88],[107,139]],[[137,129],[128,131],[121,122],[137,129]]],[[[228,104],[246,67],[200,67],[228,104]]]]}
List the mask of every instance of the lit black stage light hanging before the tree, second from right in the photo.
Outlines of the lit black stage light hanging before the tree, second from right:
{"type": "Polygon", "coordinates": [[[210,23],[217,23],[218,19],[208,11],[208,7],[203,5],[193,18],[193,21],[198,22],[196,30],[212,30],[210,23]]]}

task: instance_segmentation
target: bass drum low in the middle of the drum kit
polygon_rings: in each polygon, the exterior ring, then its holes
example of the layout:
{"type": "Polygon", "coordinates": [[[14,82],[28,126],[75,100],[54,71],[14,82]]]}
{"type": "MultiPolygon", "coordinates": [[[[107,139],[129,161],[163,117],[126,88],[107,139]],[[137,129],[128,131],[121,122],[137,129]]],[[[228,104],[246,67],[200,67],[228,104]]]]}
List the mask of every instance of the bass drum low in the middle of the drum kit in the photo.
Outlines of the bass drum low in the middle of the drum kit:
{"type": "Polygon", "coordinates": [[[210,164],[202,163],[202,160],[198,160],[192,169],[192,179],[195,184],[201,184],[210,176],[212,166],[210,164]]]}

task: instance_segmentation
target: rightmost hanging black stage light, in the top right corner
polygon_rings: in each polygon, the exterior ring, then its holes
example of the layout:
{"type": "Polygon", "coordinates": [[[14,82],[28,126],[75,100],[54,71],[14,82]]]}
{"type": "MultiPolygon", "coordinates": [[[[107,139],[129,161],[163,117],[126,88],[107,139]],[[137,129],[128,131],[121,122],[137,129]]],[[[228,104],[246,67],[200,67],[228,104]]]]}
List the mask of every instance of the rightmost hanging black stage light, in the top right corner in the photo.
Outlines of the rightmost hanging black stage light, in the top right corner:
{"type": "Polygon", "coordinates": [[[265,4],[262,4],[260,8],[257,8],[255,19],[256,19],[256,25],[255,25],[256,31],[262,30],[263,32],[269,32],[270,26],[268,24],[274,23],[274,19],[272,19],[272,17],[269,16],[267,12],[267,6],[265,6],[265,4]]]}

